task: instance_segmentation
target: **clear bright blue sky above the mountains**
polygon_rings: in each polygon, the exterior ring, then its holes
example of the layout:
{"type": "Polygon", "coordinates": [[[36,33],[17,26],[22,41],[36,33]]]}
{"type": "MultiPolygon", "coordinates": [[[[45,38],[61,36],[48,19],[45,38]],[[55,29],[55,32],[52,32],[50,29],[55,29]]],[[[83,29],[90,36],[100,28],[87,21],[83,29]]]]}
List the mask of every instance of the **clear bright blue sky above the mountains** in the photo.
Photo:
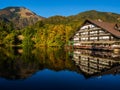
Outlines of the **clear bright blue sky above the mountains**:
{"type": "Polygon", "coordinates": [[[43,17],[70,16],[88,10],[120,14],[120,0],[0,0],[0,9],[26,7],[43,17]]]}

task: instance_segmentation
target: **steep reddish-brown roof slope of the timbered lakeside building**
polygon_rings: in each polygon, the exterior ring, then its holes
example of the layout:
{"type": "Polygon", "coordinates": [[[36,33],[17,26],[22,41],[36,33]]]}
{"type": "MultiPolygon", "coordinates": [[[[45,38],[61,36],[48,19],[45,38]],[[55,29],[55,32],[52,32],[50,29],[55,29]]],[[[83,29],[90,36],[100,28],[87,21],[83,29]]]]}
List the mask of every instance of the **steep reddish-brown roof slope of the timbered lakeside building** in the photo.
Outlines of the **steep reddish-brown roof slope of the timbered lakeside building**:
{"type": "Polygon", "coordinates": [[[109,33],[113,34],[114,36],[120,38],[120,32],[115,29],[116,23],[108,23],[108,22],[86,20],[83,24],[85,24],[86,22],[92,23],[92,24],[94,24],[94,25],[108,31],[109,33]]]}

